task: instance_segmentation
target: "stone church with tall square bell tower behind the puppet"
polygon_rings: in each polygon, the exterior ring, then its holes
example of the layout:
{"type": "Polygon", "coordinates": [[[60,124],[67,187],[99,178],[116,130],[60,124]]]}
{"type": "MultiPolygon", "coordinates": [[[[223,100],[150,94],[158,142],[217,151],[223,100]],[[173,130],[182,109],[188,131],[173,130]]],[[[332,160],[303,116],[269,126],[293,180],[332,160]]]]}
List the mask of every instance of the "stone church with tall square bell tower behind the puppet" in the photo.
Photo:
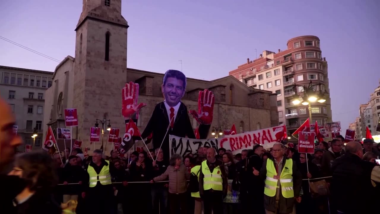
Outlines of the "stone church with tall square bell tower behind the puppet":
{"type": "MultiPolygon", "coordinates": [[[[95,126],[96,119],[109,120],[112,128],[120,129],[122,137],[125,121],[121,114],[121,92],[129,81],[139,83],[138,102],[147,104],[137,121],[140,132],[144,130],[155,105],[163,101],[161,84],[166,70],[154,73],[127,68],[127,30],[121,0],[83,0],[75,28],[75,57],[67,56],[54,70],[52,87],[45,95],[43,130],[51,126],[55,133],[56,128],[65,128],[63,109],[76,108],[79,126],[73,127],[72,136],[82,141],[82,149],[100,148],[101,139],[90,145],[90,127],[95,126]]],[[[215,95],[211,127],[229,130],[235,124],[237,133],[241,133],[279,125],[277,95],[249,88],[233,76],[211,81],[188,78],[182,98],[187,109],[198,109],[198,92],[206,88],[215,95]]],[[[192,124],[196,128],[195,119],[192,124]]],[[[107,139],[108,131],[104,127],[104,144],[107,139]]],[[[59,142],[60,150],[63,146],[59,142]]],[[[111,143],[106,153],[110,150],[111,143]]]]}

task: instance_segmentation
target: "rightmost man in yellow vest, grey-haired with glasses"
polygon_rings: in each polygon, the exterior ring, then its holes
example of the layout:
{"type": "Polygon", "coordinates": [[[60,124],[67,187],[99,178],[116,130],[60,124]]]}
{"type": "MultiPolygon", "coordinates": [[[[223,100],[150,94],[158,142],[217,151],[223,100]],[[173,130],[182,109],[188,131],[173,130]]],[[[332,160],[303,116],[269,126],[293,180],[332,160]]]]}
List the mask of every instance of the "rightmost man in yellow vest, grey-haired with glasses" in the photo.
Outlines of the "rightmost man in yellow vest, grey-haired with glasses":
{"type": "Polygon", "coordinates": [[[266,214],[291,214],[294,201],[301,202],[302,175],[296,162],[284,156],[285,146],[276,143],[272,148],[272,158],[263,163],[261,171],[253,168],[253,174],[263,178],[264,208],[266,214]]]}

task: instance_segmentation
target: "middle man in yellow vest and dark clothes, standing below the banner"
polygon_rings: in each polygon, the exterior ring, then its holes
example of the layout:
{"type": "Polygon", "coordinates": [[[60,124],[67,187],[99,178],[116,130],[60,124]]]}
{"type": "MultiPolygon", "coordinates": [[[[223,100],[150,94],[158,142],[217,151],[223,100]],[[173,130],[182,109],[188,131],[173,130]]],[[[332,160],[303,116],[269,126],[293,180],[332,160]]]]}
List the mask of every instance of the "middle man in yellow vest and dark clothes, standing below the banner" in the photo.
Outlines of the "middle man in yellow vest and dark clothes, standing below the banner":
{"type": "Polygon", "coordinates": [[[203,161],[199,171],[199,196],[203,199],[204,214],[223,213],[223,199],[227,195],[225,166],[215,158],[216,150],[207,149],[207,160],[203,161]]]}

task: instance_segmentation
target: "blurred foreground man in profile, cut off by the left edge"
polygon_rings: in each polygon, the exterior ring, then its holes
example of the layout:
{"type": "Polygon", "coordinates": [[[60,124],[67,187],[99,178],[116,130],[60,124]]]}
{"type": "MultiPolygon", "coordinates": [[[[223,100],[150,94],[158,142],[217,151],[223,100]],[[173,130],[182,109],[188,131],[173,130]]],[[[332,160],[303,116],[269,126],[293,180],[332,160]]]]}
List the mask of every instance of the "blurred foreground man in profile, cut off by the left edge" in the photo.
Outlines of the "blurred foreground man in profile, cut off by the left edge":
{"type": "Polygon", "coordinates": [[[9,105],[0,98],[0,208],[4,213],[9,213],[8,208],[12,207],[12,200],[25,187],[24,181],[18,176],[7,176],[12,169],[14,155],[17,146],[21,145],[21,137],[13,131],[16,119],[9,105]],[[9,167],[10,166],[10,167],[9,167]]]}

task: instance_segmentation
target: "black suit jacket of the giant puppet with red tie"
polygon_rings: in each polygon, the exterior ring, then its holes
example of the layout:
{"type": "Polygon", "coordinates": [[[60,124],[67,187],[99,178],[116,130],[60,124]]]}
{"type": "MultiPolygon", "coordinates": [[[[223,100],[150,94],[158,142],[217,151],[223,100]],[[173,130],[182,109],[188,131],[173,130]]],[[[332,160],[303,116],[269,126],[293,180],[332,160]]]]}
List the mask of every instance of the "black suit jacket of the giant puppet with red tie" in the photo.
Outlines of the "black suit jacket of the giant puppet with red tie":
{"type": "MultiPolygon", "coordinates": [[[[195,134],[193,131],[192,123],[190,122],[190,118],[188,116],[187,107],[185,104],[181,102],[176,119],[174,121],[173,130],[169,128],[169,131],[166,129],[169,126],[169,117],[166,111],[166,107],[164,102],[160,102],[156,105],[153,110],[152,117],[146,128],[141,134],[142,139],[147,138],[150,134],[153,133],[153,149],[160,148],[161,142],[163,142],[161,149],[164,152],[165,159],[169,159],[169,135],[175,135],[178,137],[188,137],[195,139],[195,134]],[[165,140],[164,136],[166,134],[165,140]]],[[[210,125],[199,125],[199,136],[201,139],[206,139],[209,133],[210,125]]],[[[137,138],[139,139],[139,138],[137,138]]],[[[141,138],[140,138],[141,139],[141,138]]]]}

